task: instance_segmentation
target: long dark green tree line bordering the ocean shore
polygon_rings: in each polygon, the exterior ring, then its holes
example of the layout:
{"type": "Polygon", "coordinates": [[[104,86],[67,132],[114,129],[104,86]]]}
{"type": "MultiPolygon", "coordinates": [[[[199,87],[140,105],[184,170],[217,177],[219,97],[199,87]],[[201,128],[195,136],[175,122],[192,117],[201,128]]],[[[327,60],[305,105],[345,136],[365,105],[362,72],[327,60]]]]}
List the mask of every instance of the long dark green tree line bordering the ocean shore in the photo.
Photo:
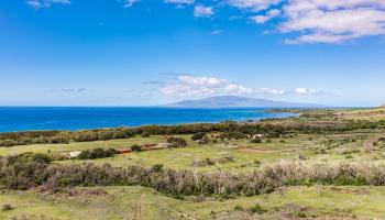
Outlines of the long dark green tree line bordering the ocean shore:
{"type": "Polygon", "coordinates": [[[73,132],[33,131],[0,133],[0,146],[106,141],[112,139],[128,139],[134,135],[199,134],[196,136],[199,138],[208,132],[226,133],[223,134],[226,136],[222,136],[223,139],[242,139],[252,134],[264,134],[266,138],[273,139],[289,133],[328,133],[377,128],[385,128],[385,121],[318,121],[309,118],[263,120],[255,123],[227,121],[221,123],[144,125],[139,128],[96,129],[73,132]]]}

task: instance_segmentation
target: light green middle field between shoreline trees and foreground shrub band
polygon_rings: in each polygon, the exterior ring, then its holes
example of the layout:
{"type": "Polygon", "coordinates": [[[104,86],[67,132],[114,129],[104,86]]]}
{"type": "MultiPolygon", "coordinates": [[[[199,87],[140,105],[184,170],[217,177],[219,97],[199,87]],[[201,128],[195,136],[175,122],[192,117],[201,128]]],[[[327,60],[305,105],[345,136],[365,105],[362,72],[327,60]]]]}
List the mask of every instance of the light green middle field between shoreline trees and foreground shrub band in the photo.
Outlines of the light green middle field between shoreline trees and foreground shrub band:
{"type": "MultiPolygon", "coordinates": [[[[235,169],[239,172],[253,172],[261,164],[277,163],[284,161],[305,160],[308,163],[317,162],[341,162],[359,161],[361,158],[385,158],[383,152],[364,153],[364,142],[371,136],[380,135],[377,131],[366,131],[358,133],[341,133],[333,135],[310,135],[300,134],[287,139],[274,139],[272,143],[253,144],[249,140],[223,141],[217,144],[198,145],[190,140],[190,135],[175,135],[188,140],[188,147],[168,148],[157,151],[146,151],[140,153],[120,154],[114,157],[89,161],[96,164],[109,163],[113,166],[163,164],[166,168],[191,169],[191,170],[216,170],[235,169]],[[333,142],[328,145],[328,140],[333,142]],[[354,142],[353,142],[354,140],[354,142]],[[336,147],[338,145],[338,147],[336,147]],[[329,147],[329,150],[328,150],[329,147]],[[318,154],[321,150],[326,154],[318,154]],[[355,150],[355,151],[353,151],[355,150]],[[345,158],[349,152],[352,158],[345,158]],[[226,161],[221,158],[232,158],[226,161]],[[215,165],[199,165],[207,158],[212,161],[223,161],[215,165]],[[261,163],[261,164],[260,164],[261,163]],[[197,165],[198,164],[198,165],[197,165]]],[[[25,152],[65,154],[70,151],[91,148],[130,148],[133,144],[156,144],[165,142],[162,136],[131,138],[123,140],[78,142],[70,144],[37,144],[22,145],[13,147],[0,147],[0,155],[15,155],[25,152]]],[[[59,164],[81,164],[85,161],[66,160],[55,163],[59,164]]]]}

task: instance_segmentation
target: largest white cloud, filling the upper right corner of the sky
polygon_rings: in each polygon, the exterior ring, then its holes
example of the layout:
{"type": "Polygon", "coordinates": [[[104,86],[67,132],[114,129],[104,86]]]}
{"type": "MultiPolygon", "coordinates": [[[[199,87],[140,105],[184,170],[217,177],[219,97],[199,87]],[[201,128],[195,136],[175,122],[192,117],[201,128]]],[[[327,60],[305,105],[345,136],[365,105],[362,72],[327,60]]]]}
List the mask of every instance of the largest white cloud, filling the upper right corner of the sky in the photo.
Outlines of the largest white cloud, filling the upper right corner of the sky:
{"type": "Polygon", "coordinates": [[[384,0],[292,0],[283,8],[283,32],[298,32],[286,43],[343,43],[385,35],[384,0]]]}

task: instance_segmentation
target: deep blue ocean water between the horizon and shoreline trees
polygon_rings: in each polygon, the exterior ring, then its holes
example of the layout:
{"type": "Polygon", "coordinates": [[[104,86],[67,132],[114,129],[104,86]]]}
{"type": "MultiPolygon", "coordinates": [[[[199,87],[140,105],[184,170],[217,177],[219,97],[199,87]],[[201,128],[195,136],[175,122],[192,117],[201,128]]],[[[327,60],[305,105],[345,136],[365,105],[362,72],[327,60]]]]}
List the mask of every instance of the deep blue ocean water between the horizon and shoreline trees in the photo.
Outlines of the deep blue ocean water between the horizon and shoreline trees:
{"type": "Polygon", "coordinates": [[[144,124],[245,121],[284,118],[294,113],[258,108],[182,109],[145,107],[0,107],[0,132],[81,130],[144,124]]]}

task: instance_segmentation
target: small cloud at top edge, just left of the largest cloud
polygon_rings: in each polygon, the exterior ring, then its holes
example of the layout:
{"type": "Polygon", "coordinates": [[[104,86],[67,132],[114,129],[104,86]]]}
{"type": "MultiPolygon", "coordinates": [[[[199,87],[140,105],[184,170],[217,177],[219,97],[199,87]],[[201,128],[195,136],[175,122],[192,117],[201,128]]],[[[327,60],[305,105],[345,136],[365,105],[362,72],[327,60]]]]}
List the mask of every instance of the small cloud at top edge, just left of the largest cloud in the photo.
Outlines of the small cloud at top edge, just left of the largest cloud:
{"type": "Polygon", "coordinates": [[[226,0],[229,6],[252,11],[266,10],[280,1],[282,0],[226,0]]]}

